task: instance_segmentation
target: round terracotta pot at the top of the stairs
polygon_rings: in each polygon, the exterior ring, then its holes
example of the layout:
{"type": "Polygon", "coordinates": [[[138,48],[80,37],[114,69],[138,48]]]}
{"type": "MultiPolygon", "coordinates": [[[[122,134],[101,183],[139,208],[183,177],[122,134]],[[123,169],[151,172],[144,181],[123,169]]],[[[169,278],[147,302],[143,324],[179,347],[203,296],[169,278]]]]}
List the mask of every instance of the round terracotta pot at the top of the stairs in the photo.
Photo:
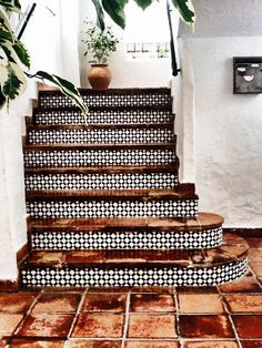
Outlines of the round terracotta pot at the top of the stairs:
{"type": "Polygon", "coordinates": [[[88,80],[93,90],[107,90],[112,79],[108,64],[91,64],[88,80]]]}

